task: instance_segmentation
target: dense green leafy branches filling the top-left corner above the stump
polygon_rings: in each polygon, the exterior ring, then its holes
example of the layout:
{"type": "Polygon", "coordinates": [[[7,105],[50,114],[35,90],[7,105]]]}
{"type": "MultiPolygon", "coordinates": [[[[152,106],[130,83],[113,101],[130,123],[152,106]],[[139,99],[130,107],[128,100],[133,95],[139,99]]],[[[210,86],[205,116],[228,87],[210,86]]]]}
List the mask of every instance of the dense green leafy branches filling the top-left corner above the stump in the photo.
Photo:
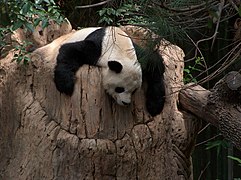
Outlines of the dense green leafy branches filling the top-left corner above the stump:
{"type": "Polygon", "coordinates": [[[0,25],[14,31],[24,27],[33,31],[34,26],[42,22],[42,27],[48,26],[49,19],[57,23],[63,21],[58,7],[53,0],[19,0],[3,1],[0,4],[2,9],[0,13],[0,25]]]}

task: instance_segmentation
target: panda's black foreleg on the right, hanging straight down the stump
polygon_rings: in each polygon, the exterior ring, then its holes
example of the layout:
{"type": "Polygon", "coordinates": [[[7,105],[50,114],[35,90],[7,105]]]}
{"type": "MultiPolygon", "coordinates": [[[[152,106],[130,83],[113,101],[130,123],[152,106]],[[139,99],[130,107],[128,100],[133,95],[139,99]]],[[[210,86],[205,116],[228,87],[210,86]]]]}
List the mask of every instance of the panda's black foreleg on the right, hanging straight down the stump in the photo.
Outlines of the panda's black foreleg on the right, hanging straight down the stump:
{"type": "Polygon", "coordinates": [[[143,49],[136,44],[134,46],[143,69],[143,77],[147,81],[146,108],[151,116],[156,116],[161,113],[165,103],[163,58],[157,51],[143,49]]]}

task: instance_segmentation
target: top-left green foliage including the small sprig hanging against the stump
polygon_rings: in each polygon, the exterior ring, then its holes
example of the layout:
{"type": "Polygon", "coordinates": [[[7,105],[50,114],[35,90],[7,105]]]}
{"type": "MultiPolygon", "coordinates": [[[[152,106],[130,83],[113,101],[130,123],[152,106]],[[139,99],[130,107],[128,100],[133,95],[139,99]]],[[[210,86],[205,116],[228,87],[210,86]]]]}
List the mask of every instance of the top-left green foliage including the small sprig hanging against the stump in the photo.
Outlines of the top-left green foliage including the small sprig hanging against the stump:
{"type": "MultiPolygon", "coordinates": [[[[40,23],[43,29],[46,28],[50,19],[57,23],[64,21],[54,0],[3,0],[0,9],[0,50],[8,45],[6,37],[18,28],[33,32],[40,23]]],[[[19,57],[15,54],[14,60],[27,64],[29,59],[24,56],[27,53],[24,48],[28,45],[29,42],[25,42],[15,47],[20,54],[19,57]]]]}

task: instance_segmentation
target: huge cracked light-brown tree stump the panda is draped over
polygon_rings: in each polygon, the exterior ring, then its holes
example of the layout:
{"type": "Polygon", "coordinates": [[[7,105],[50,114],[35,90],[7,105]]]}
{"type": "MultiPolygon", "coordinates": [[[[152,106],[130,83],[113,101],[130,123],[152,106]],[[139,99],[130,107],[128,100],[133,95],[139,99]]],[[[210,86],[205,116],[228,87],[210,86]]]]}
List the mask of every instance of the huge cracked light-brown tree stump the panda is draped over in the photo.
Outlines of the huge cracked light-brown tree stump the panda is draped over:
{"type": "Polygon", "coordinates": [[[0,179],[192,179],[199,121],[177,108],[183,52],[164,42],[166,103],[152,118],[143,89],[129,107],[103,90],[100,69],[77,72],[72,97],[53,83],[54,60],[0,61],[0,179]]]}

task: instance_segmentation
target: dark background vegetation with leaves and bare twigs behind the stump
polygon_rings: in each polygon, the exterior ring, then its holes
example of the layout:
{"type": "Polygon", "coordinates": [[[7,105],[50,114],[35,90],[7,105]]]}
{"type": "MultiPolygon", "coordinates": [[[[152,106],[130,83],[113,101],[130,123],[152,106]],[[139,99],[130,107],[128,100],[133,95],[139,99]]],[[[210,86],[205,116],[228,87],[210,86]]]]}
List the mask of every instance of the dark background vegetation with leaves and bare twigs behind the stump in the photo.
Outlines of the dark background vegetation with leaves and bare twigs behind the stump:
{"type": "MultiPolygon", "coordinates": [[[[45,28],[49,19],[60,23],[67,17],[74,28],[132,24],[151,29],[159,35],[156,42],[165,38],[184,50],[185,83],[210,89],[227,72],[241,71],[238,0],[1,0],[0,9],[0,52],[17,28],[33,31],[40,22],[45,28]]],[[[193,155],[194,179],[241,178],[239,158],[238,150],[203,123],[193,155]]]]}

